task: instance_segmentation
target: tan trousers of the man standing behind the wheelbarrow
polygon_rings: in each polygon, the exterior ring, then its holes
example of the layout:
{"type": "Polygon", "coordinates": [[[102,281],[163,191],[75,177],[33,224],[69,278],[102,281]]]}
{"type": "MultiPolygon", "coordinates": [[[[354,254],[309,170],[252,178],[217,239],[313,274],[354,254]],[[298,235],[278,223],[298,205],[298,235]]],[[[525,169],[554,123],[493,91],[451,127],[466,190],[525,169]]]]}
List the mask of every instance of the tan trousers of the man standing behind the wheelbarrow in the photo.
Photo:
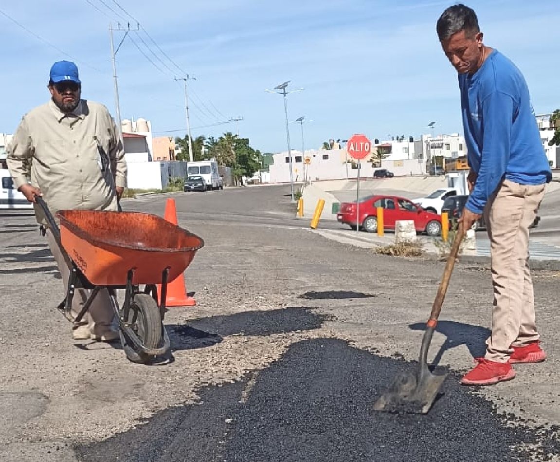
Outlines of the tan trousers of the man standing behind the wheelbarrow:
{"type": "MultiPolygon", "coordinates": [[[[46,231],[46,240],[49,244],[50,251],[52,252],[55,261],[58,265],[58,270],[62,275],[62,283],[64,286],[64,296],[66,296],[66,290],[68,287],[68,278],[70,274],[70,269],[60,252],[57,241],[54,239],[52,232],[50,230],[46,231]]],[[[74,318],[81,311],[83,304],[87,300],[89,290],[77,289],[74,292],[74,297],[72,299],[72,315],[74,318]]],[[[94,301],[90,305],[90,309],[86,311],[86,315],[82,318],[82,321],[76,325],[87,324],[90,327],[91,333],[101,335],[109,330],[111,324],[114,321],[114,311],[111,307],[111,300],[109,292],[103,289],[97,293],[94,301]]]]}

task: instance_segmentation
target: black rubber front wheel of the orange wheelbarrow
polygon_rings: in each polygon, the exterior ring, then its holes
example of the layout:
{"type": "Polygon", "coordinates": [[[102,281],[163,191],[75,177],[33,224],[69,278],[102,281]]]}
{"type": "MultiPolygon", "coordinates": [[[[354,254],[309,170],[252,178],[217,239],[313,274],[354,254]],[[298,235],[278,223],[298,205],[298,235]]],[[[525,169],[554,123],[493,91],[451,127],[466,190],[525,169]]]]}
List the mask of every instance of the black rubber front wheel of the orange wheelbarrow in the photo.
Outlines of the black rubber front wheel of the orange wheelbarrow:
{"type": "MultiPolygon", "coordinates": [[[[125,320],[147,348],[158,348],[162,341],[160,308],[151,295],[137,293],[130,302],[128,319],[125,320]]],[[[152,355],[137,351],[127,334],[120,330],[120,339],[127,358],[136,363],[145,364],[152,355]]]]}

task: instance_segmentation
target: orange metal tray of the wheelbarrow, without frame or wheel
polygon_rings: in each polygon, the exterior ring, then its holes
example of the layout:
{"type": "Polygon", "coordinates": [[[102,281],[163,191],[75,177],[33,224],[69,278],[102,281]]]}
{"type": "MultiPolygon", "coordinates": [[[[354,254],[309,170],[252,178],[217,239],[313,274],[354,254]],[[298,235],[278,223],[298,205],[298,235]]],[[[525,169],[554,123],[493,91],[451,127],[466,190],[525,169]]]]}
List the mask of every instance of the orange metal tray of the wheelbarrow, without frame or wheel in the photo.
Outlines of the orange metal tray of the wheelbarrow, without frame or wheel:
{"type": "Polygon", "coordinates": [[[60,238],[83,275],[97,286],[123,286],[133,269],[133,284],[169,281],[192,262],[204,241],[161,217],[139,212],[62,210],[60,238]]]}

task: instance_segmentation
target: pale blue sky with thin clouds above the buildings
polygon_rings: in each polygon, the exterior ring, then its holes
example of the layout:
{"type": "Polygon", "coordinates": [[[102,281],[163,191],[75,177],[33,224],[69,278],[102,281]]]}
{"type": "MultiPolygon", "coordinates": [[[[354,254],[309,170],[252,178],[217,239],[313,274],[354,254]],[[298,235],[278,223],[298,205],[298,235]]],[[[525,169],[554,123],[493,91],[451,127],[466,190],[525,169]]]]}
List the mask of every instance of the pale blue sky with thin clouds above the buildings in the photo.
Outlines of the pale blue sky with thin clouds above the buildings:
{"type": "MultiPolygon", "coordinates": [[[[476,0],[484,43],[524,73],[537,113],[560,108],[557,0],[476,0]]],[[[189,81],[194,136],[220,136],[236,124],[206,125],[242,116],[239,134],[263,152],[286,150],[282,96],[268,94],[290,80],[305,90],[288,96],[288,115],[305,115],[305,147],[353,133],[385,139],[462,132],[456,73],[441,52],[435,22],[452,2],[410,0],[21,0],[0,6],[3,48],[0,132],[48,100],[48,71],[59,59],[80,68],[82,97],[115,114],[109,22],[136,18],[116,55],[122,118],[143,117],[152,130],[184,136],[182,82],[189,81]],[[111,9],[109,9],[110,7],[111,9]],[[6,16],[19,22],[26,30],[6,16]],[[118,15],[122,16],[119,17],[118,15]],[[135,24],[134,24],[135,25],[135,24]],[[36,38],[38,35],[42,40],[36,38]],[[142,39],[145,43],[142,42],[142,39]],[[50,45],[54,45],[57,49],[50,45]],[[147,48],[150,45],[150,49],[147,48]],[[160,62],[152,52],[166,64],[160,62]],[[66,53],[66,54],[63,54],[66,53]],[[69,55],[69,56],[68,56],[69,55]],[[181,69],[181,71],[175,66],[181,69]],[[168,130],[178,130],[171,132],[168,130]]],[[[115,32],[115,46],[122,34],[115,32]]],[[[301,131],[290,124],[292,148],[301,131]]]]}

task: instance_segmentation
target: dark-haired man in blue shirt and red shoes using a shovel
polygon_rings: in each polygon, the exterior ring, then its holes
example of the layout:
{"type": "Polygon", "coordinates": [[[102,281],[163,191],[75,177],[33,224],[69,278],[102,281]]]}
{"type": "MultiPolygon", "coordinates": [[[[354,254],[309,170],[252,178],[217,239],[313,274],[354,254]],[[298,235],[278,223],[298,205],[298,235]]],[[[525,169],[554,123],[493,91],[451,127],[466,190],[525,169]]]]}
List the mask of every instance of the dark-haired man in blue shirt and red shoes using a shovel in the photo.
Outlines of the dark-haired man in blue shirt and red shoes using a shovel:
{"type": "Polygon", "coordinates": [[[461,380],[489,385],[515,377],[512,363],[544,361],[535,325],[529,269],[529,226],[552,177],[515,64],[482,42],[475,12],[463,4],[445,10],[437,35],[459,73],[470,195],[460,226],[484,214],[491,241],[494,308],[484,358],[461,380]]]}

